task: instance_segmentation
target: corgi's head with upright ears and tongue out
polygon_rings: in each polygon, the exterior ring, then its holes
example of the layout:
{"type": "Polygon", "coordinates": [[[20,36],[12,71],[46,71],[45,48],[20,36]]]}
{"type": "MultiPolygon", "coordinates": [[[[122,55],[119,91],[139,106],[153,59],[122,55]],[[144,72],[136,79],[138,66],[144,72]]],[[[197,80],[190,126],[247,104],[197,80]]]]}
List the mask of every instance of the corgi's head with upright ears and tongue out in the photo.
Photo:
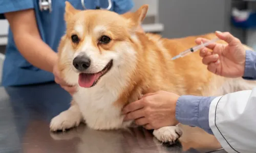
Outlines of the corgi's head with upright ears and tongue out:
{"type": "Polygon", "coordinates": [[[136,31],[147,8],[144,5],[134,13],[119,15],[106,10],[76,10],[66,2],[67,32],[58,50],[65,81],[89,88],[133,71],[136,31]]]}

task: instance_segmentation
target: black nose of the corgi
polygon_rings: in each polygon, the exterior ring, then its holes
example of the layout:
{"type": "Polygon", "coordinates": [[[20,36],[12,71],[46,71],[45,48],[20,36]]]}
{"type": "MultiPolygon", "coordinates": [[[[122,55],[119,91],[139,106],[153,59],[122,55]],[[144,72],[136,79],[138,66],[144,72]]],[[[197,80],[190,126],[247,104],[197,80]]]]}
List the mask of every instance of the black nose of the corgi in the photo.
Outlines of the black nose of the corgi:
{"type": "Polygon", "coordinates": [[[86,56],[77,56],[73,60],[74,67],[79,71],[84,71],[91,65],[91,60],[86,56]]]}

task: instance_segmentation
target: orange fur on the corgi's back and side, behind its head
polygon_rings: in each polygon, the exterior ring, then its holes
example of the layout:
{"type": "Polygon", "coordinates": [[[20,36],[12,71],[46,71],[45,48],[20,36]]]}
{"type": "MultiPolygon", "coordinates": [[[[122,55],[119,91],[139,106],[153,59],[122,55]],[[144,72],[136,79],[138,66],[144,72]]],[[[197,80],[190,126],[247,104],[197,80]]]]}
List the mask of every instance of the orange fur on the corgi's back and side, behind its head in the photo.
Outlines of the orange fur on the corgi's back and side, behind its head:
{"type": "MultiPolygon", "coordinates": [[[[123,91],[117,103],[134,101],[133,98],[137,98],[138,94],[159,90],[175,92],[179,95],[204,95],[212,83],[212,78],[218,77],[202,64],[199,52],[175,61],[170,60],[180,52],[196,45],[197,37],[212,39],[216,37],[214,34],[178,39],[160,38],[159,35],[143,33],[137,33],[137,36],[141,43],[136,46],[139,59],[137,69],[131,76],[131,86],[123,91]]],[[[219,83],[217,81],[216,86],[220,87],[221,83],[223,81],[219,83]]]]}

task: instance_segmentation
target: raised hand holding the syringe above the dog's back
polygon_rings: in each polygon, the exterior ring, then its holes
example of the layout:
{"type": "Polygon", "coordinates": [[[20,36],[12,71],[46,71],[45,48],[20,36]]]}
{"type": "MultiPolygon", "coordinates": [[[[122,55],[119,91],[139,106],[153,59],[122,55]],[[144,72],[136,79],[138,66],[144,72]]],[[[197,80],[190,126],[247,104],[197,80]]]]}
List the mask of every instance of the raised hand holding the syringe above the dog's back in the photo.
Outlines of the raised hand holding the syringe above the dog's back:
{"type": "MultiPolygon", "coordinates": [[[[212,43],[200,50],[203,64],[212,73],[223,77],[238,78],[244,75],[245,49],[241,41],[228,32],[216,32],[216,36],[228,44],[212,43]],[[210,52],[208,49],[211,49],[210,52]]],[[[197,38],[196,43],[201,44],[209,40],[197,38]]]]}

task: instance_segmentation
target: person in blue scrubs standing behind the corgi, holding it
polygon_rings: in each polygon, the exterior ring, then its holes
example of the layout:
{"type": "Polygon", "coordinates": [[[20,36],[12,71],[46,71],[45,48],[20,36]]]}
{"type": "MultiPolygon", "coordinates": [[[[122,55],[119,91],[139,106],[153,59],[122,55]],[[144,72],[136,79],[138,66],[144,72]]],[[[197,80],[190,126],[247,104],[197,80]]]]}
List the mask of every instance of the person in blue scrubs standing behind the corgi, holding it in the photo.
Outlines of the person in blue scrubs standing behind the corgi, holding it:
{"type": "MultiPolygon", "coordinates": [[[[81,0],[69,0],[76,9],[84,10],[81,0]]],[[[132,0],[112,0],[111,11],[119,14],[130,11],[132,0]]],[[[108,7],[108,0],[84,0],[87,9],[108,7]]],[[[40,11],[39,0],[0,0],[0,16],[10,24],[6,58],[3,67],[3,86],[20,86],[55,80],[68,92],[58,75],[57,47],[66,25],[63,19],[65,1],[52,1],[52,12],[40,11]]]]}

